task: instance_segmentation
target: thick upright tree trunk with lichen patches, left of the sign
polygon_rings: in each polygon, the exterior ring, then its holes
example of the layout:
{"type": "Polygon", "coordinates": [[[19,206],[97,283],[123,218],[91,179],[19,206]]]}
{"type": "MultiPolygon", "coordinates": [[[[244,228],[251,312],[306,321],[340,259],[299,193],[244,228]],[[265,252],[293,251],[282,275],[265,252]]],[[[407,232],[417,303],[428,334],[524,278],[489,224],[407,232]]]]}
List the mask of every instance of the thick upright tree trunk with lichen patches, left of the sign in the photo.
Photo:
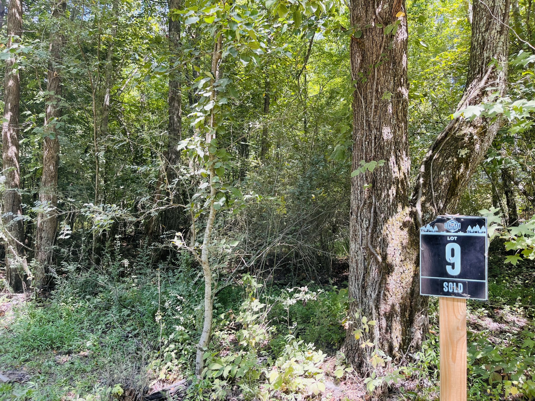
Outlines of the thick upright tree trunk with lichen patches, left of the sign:
{"type": "Polygon", "coordinates": [[[351,74],[356,82],[353,169],[361,167],[362,160],[386,160],[384,166],[351,179],[349,310],[350,320],[356,323],[348,331],[345,353],[355,368],[365,372],[374,348],[362,348],[362,338],[355,340],[353,330],[362,326],[362,317],[375,320],[377,324],[363,338],[396,354],[406,319],[399,305],[407,302],[404,288],[410,289],[411,284],[402,277],[403,268],[411,266],[404,259],[401,231],[408,215],[410,171],[407,18],[404,1],[398,0],[381,2],[380,7],[353,1],[350,12],[351,25],[371,25],[360,38],[351,38],[351,74]],[[385,27],[396,20],[395,34],[385,35],[385,27]]]}

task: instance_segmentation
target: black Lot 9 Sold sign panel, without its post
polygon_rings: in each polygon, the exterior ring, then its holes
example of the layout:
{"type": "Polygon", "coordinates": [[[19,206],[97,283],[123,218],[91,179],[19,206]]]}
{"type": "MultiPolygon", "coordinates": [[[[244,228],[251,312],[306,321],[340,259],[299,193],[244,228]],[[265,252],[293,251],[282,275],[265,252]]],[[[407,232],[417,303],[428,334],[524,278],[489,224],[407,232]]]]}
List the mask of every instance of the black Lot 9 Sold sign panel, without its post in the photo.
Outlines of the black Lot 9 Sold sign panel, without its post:
{"type": "Polygon", "coordinates": [[[439,216],[420,228],[420,294],[488,298],[487,219],[439,216]]]}

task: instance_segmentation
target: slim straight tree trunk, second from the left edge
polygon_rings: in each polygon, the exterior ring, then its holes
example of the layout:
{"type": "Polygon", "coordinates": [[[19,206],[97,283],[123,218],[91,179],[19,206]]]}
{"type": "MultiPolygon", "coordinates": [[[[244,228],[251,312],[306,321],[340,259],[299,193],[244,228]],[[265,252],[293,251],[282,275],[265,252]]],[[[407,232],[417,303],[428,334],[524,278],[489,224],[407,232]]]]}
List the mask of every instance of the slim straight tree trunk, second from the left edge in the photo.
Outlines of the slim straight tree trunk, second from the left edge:
{"type": "MultiPolygon", "coordinates": [[[[52,11],[52,16],[59,18],[65,11],[65,1],[60,0],[52,11]]],[[[56,27],[56,29],[59,29],[56,27]]],[[[58,165],[59,165],[59,140],[58,122],[61,117],[60,101],[61,65],[63,35],[58,32],[50,34],[50,61],[48,64],[47,92],[49,93],[45,110],[46,135],[43,140],[43,175],[41,177],[41,190],[39,202],[47,205],[47,211],[37,216],[37,240],[35,245],[36,259],[39,263],[35,274],[35,290],[41,292],[47,289],[49,284],[49,266],[52,265],[52,245],[56,238],[58,225],[58,165]]]]}

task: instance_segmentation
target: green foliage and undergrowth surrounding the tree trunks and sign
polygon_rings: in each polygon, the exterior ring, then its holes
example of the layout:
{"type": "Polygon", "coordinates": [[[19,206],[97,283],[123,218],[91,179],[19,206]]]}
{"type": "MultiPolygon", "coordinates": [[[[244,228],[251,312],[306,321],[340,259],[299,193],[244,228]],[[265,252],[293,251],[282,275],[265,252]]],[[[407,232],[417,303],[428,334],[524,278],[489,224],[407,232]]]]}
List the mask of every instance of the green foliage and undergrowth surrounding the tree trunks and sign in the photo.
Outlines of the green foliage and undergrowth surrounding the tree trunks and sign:
{"type": "MultiPolygon", "coordinates": [[[[459,112],[503,121],[457,210],[486,215],[494,233],[490,300],[469,302],[473,400],[535,398],[535,10],[513,3],[507,95],[459,112]]],[[[142,399],[181,380],[181,399],[438,399],[434,300],[422,349],[393,360],[368,340],[375,321],[359,316],[375,371],[359,377],[343,354],[357,174],[349,43],[366,29],[349,25],[347,4],[77,0],[59,17],[54,6],[25,3],[22,42],[6,48],[0,3],[0,59],[14,58],[21,77],[31,273],[17,295],[0,269],[0,373],[18,378],[0,382],[0,401],[142,399]],[[59,221],[52,285],[36,294],[54,33],[64,38],[59,221]],[[170,82],[180,89],[179,138],[170,137],[170,82]],[[213,319],[195,375],[204,256],[213,319]]],[[[469,1],[407,1],[413,179],[462,96],[470,13],[469,1]]],[[[385,165],[370,163],[363,171],[385,165]]]]}

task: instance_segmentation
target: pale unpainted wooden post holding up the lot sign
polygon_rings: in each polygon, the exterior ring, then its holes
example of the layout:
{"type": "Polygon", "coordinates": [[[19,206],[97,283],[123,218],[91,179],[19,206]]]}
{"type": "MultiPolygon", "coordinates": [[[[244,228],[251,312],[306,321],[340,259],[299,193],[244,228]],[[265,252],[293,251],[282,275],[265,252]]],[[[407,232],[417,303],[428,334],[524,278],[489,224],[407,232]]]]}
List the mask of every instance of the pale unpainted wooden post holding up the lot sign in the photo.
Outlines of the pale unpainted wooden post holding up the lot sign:
{"type": "Polygon", "coordinates": [[[467,300],[439,297],[440,401],[467,399],[467,300]]]}

